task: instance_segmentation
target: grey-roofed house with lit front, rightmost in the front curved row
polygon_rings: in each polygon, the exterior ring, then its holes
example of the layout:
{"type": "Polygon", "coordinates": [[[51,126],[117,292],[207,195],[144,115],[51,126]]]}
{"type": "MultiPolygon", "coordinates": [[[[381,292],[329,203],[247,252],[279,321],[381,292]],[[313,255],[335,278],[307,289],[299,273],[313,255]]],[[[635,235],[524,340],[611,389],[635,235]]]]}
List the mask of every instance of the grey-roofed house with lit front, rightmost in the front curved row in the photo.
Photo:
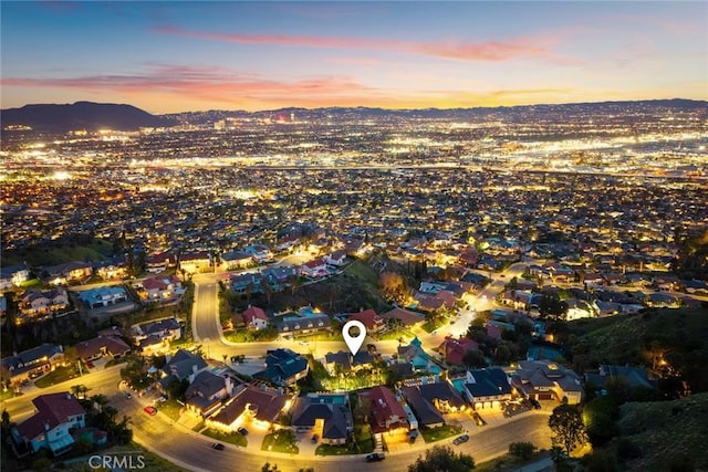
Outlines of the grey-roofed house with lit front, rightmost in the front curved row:
{"type": "Polygon", "coordinates": [[[520,360],[511,375],[511,385],[523,398],[558,401],[565,398],[570,405],[580,403],[583,398],[577,375],[548,359],[520,360]]]}

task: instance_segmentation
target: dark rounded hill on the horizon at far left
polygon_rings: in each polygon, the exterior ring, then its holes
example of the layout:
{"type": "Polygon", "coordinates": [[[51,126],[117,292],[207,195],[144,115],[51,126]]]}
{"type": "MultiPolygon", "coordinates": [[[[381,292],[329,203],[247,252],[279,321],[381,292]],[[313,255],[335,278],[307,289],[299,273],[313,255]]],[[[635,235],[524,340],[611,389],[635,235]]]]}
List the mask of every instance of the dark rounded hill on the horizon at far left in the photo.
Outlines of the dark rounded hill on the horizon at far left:
{"type": "Polygon", "coordinates": [[[65,133],[72,129],[136,130],[142,127],[173,126],[175,119],[150,115],[132,105],[76,102],[65,105],[25,105],[0,112],[2,127],[25,125],[38,132],[65,133]]]}

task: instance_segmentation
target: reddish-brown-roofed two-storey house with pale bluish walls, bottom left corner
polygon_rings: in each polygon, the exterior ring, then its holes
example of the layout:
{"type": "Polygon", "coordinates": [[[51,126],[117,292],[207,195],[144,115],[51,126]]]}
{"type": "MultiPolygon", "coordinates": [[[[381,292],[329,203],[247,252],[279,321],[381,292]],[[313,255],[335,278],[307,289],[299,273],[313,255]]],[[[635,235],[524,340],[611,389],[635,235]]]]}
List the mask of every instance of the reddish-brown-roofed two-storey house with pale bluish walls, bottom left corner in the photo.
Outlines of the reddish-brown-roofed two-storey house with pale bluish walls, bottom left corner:
{"type": "Polygon", "coordinates": [[[86,426],[86,411],[67,391],[40,395],[32,400],[35,412],[17,426],[13,434],[32,452],[48,450],[61,455],[74,445],[71,432],[86,426]]]}

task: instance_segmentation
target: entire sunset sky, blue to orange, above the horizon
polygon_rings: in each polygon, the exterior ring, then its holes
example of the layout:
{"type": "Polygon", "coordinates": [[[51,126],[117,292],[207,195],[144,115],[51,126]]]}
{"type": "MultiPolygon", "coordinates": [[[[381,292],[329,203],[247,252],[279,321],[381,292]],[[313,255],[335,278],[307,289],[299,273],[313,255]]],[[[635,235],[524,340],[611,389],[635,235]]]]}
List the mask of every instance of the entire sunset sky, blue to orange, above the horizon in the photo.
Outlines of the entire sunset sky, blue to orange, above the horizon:
{"type": "Polygon", "coordinates": [[[702,2],[3,2],[2,108],[708,98],[702,2]]]}

